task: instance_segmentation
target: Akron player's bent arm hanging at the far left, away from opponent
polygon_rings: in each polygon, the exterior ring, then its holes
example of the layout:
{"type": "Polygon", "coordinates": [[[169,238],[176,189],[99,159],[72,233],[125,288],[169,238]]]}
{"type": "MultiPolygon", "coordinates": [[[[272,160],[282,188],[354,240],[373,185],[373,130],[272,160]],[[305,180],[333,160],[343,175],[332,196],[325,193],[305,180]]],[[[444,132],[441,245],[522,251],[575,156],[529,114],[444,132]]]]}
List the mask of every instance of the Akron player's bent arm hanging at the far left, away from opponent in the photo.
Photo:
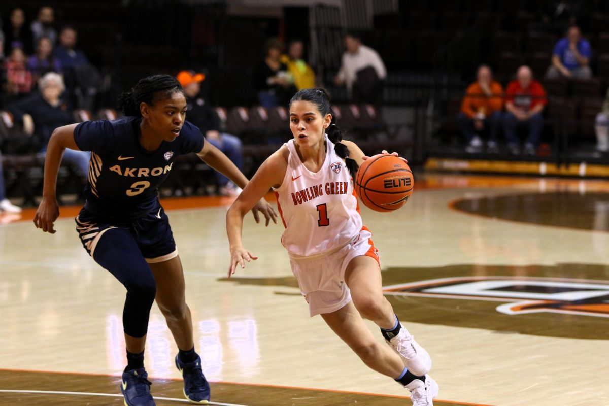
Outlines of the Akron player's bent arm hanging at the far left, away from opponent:
{"type": "Polygon", "coordinates": [[[57,205],[57,172],[62,163],[63,152],[66,148],[79,151],[78,145],[74,141],[74,128],[77,124],[65,125],[55,128],[49,139],[49,145],[44,158],[44,186],[42,191],[42,201],[38,205],[36,215],[34,215],[34,225],[41,228],[46,233],[55,234],[53,224],[59,217],[59,206],[57,205]]]}

